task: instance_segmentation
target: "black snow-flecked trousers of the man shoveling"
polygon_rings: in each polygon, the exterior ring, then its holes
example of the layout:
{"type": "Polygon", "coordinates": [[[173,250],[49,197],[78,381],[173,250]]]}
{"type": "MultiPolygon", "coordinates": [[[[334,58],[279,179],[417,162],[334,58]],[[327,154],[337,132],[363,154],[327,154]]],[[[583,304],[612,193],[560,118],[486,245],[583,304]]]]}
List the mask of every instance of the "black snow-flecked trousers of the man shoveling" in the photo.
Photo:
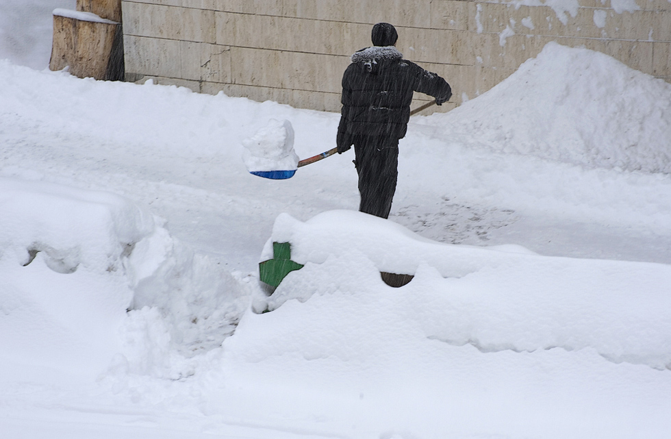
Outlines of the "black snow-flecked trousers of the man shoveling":
{"type": "Polygon", "coordinates": [[[354,141],[359,173],[359,212],[388,218],[398,179],[398,139],[356,136],[354,141]]]}

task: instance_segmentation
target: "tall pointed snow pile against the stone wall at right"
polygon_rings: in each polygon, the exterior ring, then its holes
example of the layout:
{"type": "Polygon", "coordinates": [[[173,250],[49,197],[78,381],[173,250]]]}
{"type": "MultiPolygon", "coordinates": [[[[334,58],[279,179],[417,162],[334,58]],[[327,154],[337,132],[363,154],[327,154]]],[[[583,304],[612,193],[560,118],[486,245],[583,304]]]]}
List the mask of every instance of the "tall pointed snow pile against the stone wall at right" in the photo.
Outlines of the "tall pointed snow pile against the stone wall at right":
{"type": "Polygon", "coordinates": [[[476,132],[477,145],[501,153],[671,173],[671,84],[556,42],[477,99],[423,123],[471,144],[476,132]]]}

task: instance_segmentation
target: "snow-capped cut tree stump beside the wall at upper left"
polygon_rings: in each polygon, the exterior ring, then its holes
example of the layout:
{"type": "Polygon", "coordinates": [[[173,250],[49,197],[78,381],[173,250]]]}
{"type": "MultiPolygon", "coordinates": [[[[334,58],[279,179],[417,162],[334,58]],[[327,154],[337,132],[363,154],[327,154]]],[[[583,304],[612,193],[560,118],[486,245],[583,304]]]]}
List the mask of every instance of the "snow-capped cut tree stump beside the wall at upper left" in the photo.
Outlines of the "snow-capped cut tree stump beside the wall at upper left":
{"type": "MultiPolygon", "coordinates": [[[[121,23],[92,12],[53,11],[53,45],[49,69],[69,67],[72,75],[95,79],[118,79],[113,53],[119,44],[121,23]]],[[[123,62],[123,59],[122,59],[123,62]]]]}

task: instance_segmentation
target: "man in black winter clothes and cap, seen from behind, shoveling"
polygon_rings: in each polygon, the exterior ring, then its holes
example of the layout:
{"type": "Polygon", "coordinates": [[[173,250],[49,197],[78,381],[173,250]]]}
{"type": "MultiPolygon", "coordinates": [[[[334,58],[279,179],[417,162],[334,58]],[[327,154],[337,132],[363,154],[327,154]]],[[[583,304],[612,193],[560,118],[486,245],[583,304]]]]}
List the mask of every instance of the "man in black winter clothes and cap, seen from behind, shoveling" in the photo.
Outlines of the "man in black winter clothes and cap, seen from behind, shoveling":
{"type": "Polygon", "coordinates": [[[342,116],[338,153],[354,145],[359,173],[359,211],[387,218],[398,178],[398,140],[405,137],[414,91],[435,97],[441,105],[452,96],[442,77],[403,59],[398,34],[389,23],[377,23],[374,47],[357,51],[342,76],[342,116]]]}

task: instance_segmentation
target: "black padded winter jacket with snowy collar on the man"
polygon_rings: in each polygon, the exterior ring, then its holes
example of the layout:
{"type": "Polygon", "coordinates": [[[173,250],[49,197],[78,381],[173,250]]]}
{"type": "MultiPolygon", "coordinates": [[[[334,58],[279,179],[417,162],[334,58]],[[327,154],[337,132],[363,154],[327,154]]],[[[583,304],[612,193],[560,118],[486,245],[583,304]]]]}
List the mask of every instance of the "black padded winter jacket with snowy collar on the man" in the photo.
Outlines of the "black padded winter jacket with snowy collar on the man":
{"type": "Polygon", "coordinates": [[[342,76],[339,147],[342,138],[356,135],[403,138],[413,91],[435,97],[439,104],[452,95],[442,77],[403,60],[396,47],[357,51],[342,76]]]}

